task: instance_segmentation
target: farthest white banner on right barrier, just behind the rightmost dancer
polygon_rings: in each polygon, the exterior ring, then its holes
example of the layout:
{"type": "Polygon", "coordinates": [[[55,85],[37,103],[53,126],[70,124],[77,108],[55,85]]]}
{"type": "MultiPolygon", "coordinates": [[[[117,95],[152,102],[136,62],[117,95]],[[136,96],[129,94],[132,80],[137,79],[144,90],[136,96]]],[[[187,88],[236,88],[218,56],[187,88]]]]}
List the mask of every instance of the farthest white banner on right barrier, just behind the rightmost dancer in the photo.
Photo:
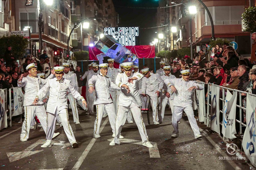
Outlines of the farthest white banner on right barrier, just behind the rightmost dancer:
{"type": "MultiPolygon", "coordinates": [[[[204,84],[203,84],[204,85],[204,84]]],[[[205,117],[205,90],[196,90],[196,101],[198,107],[198,120],[199,122],[206,123],[205,117]]]]}

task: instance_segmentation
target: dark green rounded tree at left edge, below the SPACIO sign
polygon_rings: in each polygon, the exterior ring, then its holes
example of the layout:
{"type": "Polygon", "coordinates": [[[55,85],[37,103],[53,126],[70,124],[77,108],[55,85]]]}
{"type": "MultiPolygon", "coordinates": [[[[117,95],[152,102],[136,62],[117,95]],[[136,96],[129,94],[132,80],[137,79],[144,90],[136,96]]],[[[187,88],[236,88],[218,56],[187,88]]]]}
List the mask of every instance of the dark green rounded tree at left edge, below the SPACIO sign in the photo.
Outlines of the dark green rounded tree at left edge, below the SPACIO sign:
{"type": "Polygon", "coordinates": [[[12,47],[13,55],[16,59],[22,59],[28,48],[28,39],[21,35],[4,35],[0,37],[0,58],[4,57],[7,46],[12,47]]]}

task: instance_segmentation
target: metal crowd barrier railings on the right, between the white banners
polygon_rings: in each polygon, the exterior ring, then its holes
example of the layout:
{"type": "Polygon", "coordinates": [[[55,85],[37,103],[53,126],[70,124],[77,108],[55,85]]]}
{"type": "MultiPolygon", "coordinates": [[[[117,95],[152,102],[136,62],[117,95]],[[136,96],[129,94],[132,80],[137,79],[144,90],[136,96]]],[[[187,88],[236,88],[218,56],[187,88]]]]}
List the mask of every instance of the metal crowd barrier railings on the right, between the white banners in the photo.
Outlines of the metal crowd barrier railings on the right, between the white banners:
{"type": "MultiPolygon", "coordinates": [[[[211,94],[210,94],[210,87],[211,86],[218,86],[218,85],[215,85],[215,84],[211,84],[211,83],[209,83],[208,84],[208,90],[207,90],[207,93],[208,93],[208,95],[207,95],[207,127],[210,127],[210,117],[211,117],[211,114],[210,114],[210,107],[211,107],[211,94]]],[[[230,89],[230,88],[227,88],[227,87],[222,87],[222,86],[218,86],[218,87],[220,87],[220,89],[222,89],[222,97],[221,97],[221,95],[220,95],[220,98],[219,98],[219,100],[220,100],[220,102],[222,101],[222,107],[219,107],[219,110],[220,110],[220,114],[222,113],[223,114],[223,108],[224,108],[224,104],[225,104],[225,99],[226,99],[226,93],[225,93],[225,89],[226,90],[229,90],[229,91],[232,91],[232,92],[237,92],[238,94],[237,94],[237,96],[239,96],[238,98],[237,98],[237,100],[239,100],[239,105],[238,104],[236,104],[236,107],[237,108],[239,108],[239,117],[237,117],[236,116],[236,122],[238,122],[239,123],[239,131],[240,131],[240,134],[241,133],[243,133],[242,132],[242,126],[247,126],[246,124],[244,124],[243,122],[242,122],[242,119],[244,118],[244,116],[243,116],[243,112],[245,111],[246,112],[246,108],[245,107],[243,107],[242,106],[242,93],[244,93],[244,94],[250,94],[250,95],[252,95],[252,96],[255,96],[256,97],[256,95],[254,95],[254,94],[251,94],[251,93],[247,93],[247,92],[244,92],[244,91],[240,91],[240,90],[236,90],[236,89],[230,89]],[[239,118],[239,119],[238,119],[239,118]]],[[[219,115],[220,115],[219,114],[219,115]]],[[[219,118],[220,119],[220,118],[219,118]]],[[[220,122],[220,125],[222,126],[222,122],[221,122],[222,120],[220,120],[219,122],[220,122]]],[[[238,133],[238,132],[237,132],[238,133]]],[[[226,137],[223,137],[223,136],[221,136],[222,134],[221,134],[221,128],[220,128],[220,133],[219,133],[219,136],[223,139],[223,140],[229,140],[228,138],[226,138],[226,137]]],[[[242,147],[241,147],[242,148],[242,147]]]]}

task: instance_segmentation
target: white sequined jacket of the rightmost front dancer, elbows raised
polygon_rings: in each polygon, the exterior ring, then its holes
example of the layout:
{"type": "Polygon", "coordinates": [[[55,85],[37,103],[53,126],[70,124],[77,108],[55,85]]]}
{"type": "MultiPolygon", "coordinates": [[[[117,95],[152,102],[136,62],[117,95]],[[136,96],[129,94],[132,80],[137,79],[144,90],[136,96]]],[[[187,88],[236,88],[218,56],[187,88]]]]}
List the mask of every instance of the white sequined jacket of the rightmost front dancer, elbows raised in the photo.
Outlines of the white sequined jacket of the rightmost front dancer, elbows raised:
{"type": "Polygon", "coordinates": [[[173,106],[185,107],[192,106],[192,92],[189,92],[190,87],[195,86],[197,90],[202,90],[204,87],[195,81],[185,81],[183,79],[165,79],[164,83],[167,87],[174,86],[176,93],[173,100],[173,106]]]}

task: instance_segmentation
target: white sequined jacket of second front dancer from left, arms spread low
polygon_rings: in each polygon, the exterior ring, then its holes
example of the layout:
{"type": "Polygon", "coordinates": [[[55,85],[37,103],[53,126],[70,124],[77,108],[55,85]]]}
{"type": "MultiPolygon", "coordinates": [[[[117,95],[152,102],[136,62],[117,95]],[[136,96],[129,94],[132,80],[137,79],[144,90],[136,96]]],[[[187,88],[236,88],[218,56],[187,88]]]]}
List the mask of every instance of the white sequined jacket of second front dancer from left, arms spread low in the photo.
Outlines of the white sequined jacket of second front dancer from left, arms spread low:
{"type": "Polygon", "coordinates": [[[62,79],[60,82],[57,78],[48,79],[44,87],[42,87],[37,93],[37,98],[42,99],[50,91],[49,100],[46,107],[46,112],[54,114],[56,110],[68,108],[67,103],[67,91],[78,100],[84,100],[84,98],[74,89],[71,85],[70,80],[62,79]]]}

